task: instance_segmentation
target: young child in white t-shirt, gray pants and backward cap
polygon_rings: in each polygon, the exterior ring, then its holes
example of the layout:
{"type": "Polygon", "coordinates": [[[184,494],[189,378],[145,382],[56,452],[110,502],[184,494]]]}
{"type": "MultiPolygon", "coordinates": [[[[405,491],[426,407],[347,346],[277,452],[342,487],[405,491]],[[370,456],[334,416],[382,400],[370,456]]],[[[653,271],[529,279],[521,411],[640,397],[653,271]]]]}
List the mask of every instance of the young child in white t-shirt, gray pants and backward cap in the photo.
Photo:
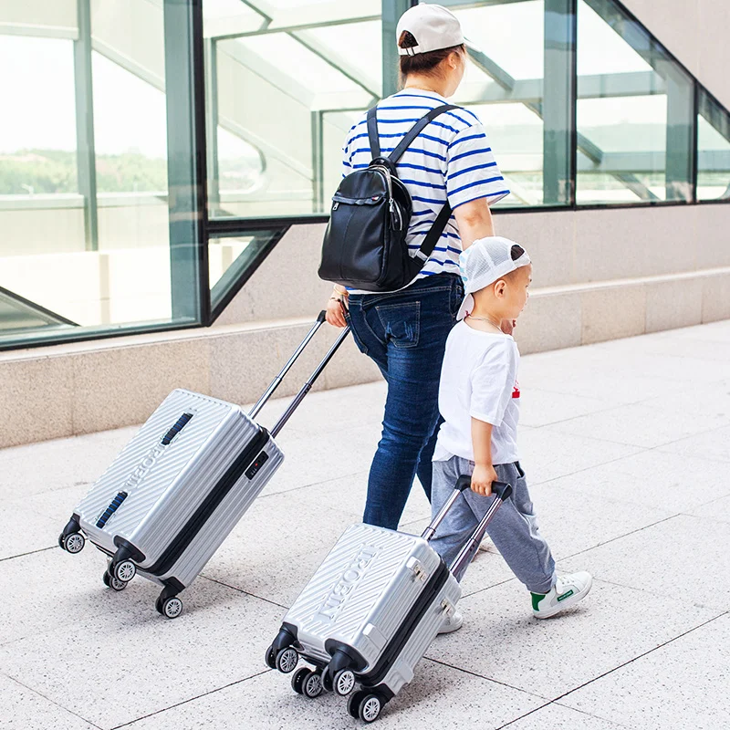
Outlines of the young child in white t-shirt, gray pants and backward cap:
{"type": "MultiPolygon", "coordinates": [[[[532,265],[527,252],[499,236],[475,241],[460,255],[466,297],[443,358],[439,409],[443,425],[433,454],[431,502],[435,516],[461,474],[465,491],[432,540],[447,565],[458,554],[494,499],[492,482],[513,494],[488,527],[507,565],[532,594],[532,611],[547,619],[586,597],[592,578],[580,572],[558,577],[537,521],[517,454],[519,351],[510,334],[527,304],[532,265]]],[[[456,631],[462,616],[444,620],[441,633],[456,631]]]]}

